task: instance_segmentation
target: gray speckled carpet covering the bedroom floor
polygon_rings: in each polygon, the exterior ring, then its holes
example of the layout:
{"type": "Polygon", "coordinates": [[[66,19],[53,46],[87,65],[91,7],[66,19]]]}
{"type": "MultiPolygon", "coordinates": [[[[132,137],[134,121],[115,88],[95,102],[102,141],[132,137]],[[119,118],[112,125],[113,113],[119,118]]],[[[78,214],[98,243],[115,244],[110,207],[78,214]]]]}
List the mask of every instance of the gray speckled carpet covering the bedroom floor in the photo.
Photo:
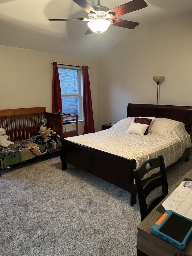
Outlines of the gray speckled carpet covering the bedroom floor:
{"type": "MultiPolygon", "coordinates": [[[[167,172],[169,189],[192,168],[167,172]]],[[[2,171],[0,255],[137,255],[139,203],[129,192],[70,166],[59,157],[2,171]]]]}

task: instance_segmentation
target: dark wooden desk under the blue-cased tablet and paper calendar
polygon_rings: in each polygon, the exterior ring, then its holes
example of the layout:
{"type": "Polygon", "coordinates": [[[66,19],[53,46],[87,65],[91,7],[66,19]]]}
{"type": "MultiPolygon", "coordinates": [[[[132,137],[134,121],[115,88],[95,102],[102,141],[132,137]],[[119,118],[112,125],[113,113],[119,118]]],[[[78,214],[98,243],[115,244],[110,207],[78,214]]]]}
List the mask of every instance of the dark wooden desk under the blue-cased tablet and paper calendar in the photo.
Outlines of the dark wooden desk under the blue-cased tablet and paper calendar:
{"type": "MultiPolygon", "coordinates": [[[[192,169],[186,174],[185,178],[192,179],[192,169]]],[[[181,182],[182,180],[179,182],[179,184],[181,182]]],[[[177,186],[175,186],[175,188],[176,187],[177,186]]],[[[167,197],[170,194],[171,193],[169,193],[167,197]]],[[[164,200],[167,197],[165,197],[164,200]]],[[[161,203],[164,200],[162,200],[161,203]]],[[[161,203],[159,205],[161,205],[161,203]]],[[[169,242],[159,238],[158,236],[154,236],[151,233],[150,228],[163,215],[161,212],[156,211],[158,206],[137,226],[137,248],[149,256],[192,255],[192,237],[188,241],[185,250],[179,250],[177,247],[173,246],[169,242]]]]}

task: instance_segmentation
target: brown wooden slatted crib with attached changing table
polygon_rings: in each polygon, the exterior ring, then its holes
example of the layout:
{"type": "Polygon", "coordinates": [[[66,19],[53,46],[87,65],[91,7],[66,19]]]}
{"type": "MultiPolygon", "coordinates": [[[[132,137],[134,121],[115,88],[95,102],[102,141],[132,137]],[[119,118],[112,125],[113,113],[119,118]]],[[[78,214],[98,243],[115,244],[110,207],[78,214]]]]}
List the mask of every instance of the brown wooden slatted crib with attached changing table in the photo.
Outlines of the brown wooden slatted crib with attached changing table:
{"type": "MultiPolygon", "coordinates": [[[[47,128],[51,127],[60,137],[69,137],[78,135],[78,117],[73,115],[61,115],[46,112],[46,107],[30,107],[17,109],[0,110],[0,128],[6,130],[10,141],[23,141],[38,134],[42,124],[42,118],[47,119],[47,128]],[[64,132],[63,123],[76,121],[76,130],[64,132]]],[[[60,142],[60,139],[58,139],[60,142]]],[[[1,148],[2,149],[2,148],[1,148]]],[[[60,151],[61,147],[54,149],[60,151]]],[[[48,150],[49,151],[49,150],[48,150]]],[[[47,153],[50,153],[49,151],[47,153]]],[[[33,156],[34,157],[34,156],[33,156]]],[[[0,157],[1,158],[1,157],[0,157]]],[[[2,166],[2,158],[1,158],[2,166]]],[[[1,177],[1,172],[0,172],[1,177]]]]}

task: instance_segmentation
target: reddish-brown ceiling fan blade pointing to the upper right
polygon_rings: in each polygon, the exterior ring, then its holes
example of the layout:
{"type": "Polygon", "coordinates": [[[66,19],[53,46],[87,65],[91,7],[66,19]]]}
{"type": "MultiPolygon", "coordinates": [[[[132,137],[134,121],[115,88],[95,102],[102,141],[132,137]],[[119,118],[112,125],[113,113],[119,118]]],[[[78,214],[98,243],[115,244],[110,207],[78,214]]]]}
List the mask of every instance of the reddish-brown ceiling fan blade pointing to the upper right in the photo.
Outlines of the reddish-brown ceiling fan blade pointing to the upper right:
{"type": "Polygon", "coordinates": [[[113,13],[113,17],[118,17],[123,14],[130,13],[132,11],[136,11],[145,7],[147,7],[147,3],[144,0],[133,0],[124,5],[113,8],[107,11],[107,13],[113,13]]]}

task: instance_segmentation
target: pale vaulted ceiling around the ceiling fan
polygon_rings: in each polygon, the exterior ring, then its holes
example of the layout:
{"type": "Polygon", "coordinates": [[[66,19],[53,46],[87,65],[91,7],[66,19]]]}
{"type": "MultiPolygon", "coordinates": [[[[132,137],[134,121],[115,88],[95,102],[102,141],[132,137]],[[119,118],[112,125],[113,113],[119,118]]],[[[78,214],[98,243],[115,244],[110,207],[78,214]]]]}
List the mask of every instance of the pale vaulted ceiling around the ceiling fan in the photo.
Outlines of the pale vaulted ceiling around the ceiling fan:
{"type": "MultiPolygon", "coordinates": [[[[148,4],[146,8],[118,19],[139,22],[141,26],[192,11],[192,0],[145,1],[148,4]]],[[[87,2],[97,5],[97,0],[87,2]]],[[[126,2],[130,1],[100,0],[100,5],[112,9],[126,2]]],[[[96,33],[85,35],[87,22],[48,20],[87,17],[87,12],[72,0],[0,0],[0,44],[98,60],[131,31],[110,26],[100,36],[96,33]]]]}

